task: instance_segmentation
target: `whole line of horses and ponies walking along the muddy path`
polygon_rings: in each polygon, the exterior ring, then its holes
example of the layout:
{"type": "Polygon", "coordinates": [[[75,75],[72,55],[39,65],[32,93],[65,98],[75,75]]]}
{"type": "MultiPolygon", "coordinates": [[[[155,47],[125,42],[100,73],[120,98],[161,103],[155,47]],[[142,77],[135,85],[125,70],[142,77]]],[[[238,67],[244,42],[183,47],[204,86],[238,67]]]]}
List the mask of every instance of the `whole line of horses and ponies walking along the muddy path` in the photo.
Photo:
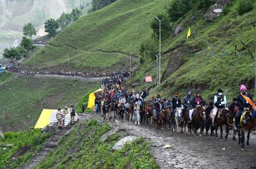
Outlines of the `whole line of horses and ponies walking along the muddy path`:
{"type": "MultiPolygon", "coordinates": [[[[154,109],[154,104],[152,103],[148,106],[147,103],[143,103],[140,106],[140,116],[141,116],[141,123],[152,123],[154,128],[166,129],[166,125],[171,130],[178,131],[181,130],[181,133],[187,131],[191,133],[193,131],[193,135],[197,135],[197,130],[200,129],[199,135],[203,133],[203,130],[206,130],[206,135],[208,135],[208,131],[210,130],[210,135],[213,137],[215,131],[215,137],[218,139],[218,128],[220,127],[220,141],[223,141],[223,125],[226,125],[226,135],[225,138],[228,138],[228,133],[230,129],[233,129],[233,139],[235,140],[235,135],[238,132],[238,145],[241,146],[241,149],[245,149],[245,131],[248,131],[247,134],[247,147],[249,147],[249,138],[250,133],[253,131],[255,133],[256,127],[256,120],[252,118],[251,113],[249,111],[245,111],[243,115],[243,120],[241,120],[241,130],[237,130],[234,126],[234,114],[230,113],[227,108],[219,109],[218,114],[216,115],[214,121],[216,123],[215,126],[212,124],[212,117],[211,115],[206,115],[206,111],[204,107],[196,107],[193,110],[193,118],[190,121],[189,118],[189,110],[184,113],[185,116],[183,117],[183,109],[177,108],[174,110],[173,115],[171,115],[170,107],[166,109],[162,109],[159,115],[156,114],[154,109]]],[[[129,107],[125,107],[124,103],[119,104],[119,112],[117,115],[119,116],[120,121],[131,121],[133,122],[133,117],[135,119],[134,114],[134,106],[133,103],[129,105],[129,107]]],[[[212,114],[212,113],[211,113],[212,114]]]]}

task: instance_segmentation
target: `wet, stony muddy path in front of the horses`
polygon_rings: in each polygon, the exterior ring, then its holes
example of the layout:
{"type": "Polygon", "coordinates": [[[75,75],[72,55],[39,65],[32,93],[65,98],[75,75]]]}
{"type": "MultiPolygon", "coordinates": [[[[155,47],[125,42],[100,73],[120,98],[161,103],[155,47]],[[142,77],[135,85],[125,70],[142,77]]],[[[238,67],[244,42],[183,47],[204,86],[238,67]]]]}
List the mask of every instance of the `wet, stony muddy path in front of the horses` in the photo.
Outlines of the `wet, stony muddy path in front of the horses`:
{"type": "MultiPolygon", "coordinates": [[[[90,115],[102,120],[100,115],[90,115]]],[[[152,152],[160,168],[256,168],[256,137],[251,135],[250,148],[242,151],[238,141],[232,140],[232,131],[223,142],[206,136],[154,129],[153,125],[115,121],[127,129],[129,135],[142,136],[152,144],[152,152]],[[170,148],[164,148],[170,145],[170,148]]],[[[237,139],[237,136],[236,136],[237,139]]]]}

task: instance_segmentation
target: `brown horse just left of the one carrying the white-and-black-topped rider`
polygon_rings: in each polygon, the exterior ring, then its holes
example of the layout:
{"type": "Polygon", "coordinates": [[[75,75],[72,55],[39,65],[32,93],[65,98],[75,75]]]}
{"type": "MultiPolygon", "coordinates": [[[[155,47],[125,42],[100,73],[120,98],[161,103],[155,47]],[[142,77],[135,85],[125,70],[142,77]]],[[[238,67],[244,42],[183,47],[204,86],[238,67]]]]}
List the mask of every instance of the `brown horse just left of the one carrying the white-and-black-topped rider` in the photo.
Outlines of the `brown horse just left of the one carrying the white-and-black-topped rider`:
{"type": "Polygon", "coordinates": [[[194,130],[194,135],[197,134],[197,129],[205,124],[205,109],[204,107],[197,107],[193,111],[193,120],[192,120],[192,128],[194,130]]]}

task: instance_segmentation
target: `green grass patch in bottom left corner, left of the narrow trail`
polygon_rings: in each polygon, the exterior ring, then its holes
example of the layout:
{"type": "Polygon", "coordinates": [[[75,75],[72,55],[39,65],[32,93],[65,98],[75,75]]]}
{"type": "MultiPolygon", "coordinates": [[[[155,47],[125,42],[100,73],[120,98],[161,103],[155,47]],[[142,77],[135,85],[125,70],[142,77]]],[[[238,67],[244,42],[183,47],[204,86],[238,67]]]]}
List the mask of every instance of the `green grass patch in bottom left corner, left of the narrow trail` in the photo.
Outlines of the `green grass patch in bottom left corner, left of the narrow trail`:
{"type": "Polygon", "coordinates": [[[41,144],[48,137],[50,137],[50,134],[42,133],[40,129],[4,133],[4,139],[0,138],[0,144],[13,144],[13,146],[5,147],[6,150],[0,149],[0,168],[20,168],[24,166],[33,154],[40,151],[41,144]],[[15,160],[13,160],[13,155],[22,147],[26,147],[24,152],[20,156],[15,156],[15,160]]]}

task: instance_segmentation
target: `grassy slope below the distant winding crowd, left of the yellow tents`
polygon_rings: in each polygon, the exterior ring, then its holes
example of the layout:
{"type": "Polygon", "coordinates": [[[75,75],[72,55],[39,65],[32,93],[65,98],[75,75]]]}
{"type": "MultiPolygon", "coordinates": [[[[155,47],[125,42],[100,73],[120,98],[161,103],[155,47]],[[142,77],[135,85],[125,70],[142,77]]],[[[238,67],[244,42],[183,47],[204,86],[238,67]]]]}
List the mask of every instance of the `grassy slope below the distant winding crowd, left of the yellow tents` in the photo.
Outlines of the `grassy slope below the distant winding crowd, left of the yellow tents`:
{"type": "Polygon", "coordinates": [[[22,131],[34,127],[42,109],[57,109],[71,103],[76,105],[95,86],[95,82],[77,80],[14,74],[0,76],[1,127],[4,131],[22,131]]]}

